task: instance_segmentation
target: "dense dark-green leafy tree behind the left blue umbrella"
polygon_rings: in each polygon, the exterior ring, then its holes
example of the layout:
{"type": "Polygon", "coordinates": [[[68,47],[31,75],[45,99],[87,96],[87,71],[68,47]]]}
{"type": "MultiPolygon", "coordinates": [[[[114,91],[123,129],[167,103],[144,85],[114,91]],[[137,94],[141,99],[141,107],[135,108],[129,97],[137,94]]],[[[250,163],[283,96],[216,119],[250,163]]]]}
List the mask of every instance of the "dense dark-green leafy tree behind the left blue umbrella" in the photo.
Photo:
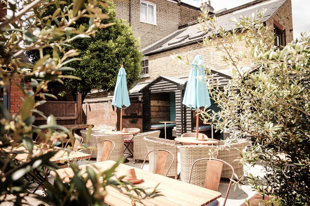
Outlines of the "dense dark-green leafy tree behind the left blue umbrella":
{"type": "MultiPolygon", "coordinates": [[[[67,5],[71,2],[72,0],[67,0],[67,5]]],[[[91,38],[74,39],[70,41],[70,46],[65,48],[66,50],[77,49],[80,52],[74,58],[80,58],[81,61],[72,61],[67,64],[75,70],[64,71],[65,74],[79,77],[80,80],[62,79],[62,81],[67,91],[72,93],[73,98],[76,97],[76,93],[81,93],[82,101],[92,89],[113,92],[121,65],[124,65],[127,73],[128,88],[140,80],[142,72],[140,44],[139,40],[133,36],[131,27],[126,20],[115,18],[116,11],[112,1],[108,2],[108,9],[103,7],[101,9],[109,15],[109,18],[102,20],[102,23],[110,26],[97,28],[91,38]]],[[[55,5],[50,5],[43,16],[52,15],[55,10],[55,5]]],[[[90,18],[83,17],[72,27],[77,30],[88,29],[89,21],[90,18]]],[[[71,34],[70,37],[75,35],[71,34]]],[[[44,54],[48,53],[51,53],[50,48],[44,50],[44,54]]],[[[26,51],[26,55],[33,63],[38,61],[38,51],[26,51]]]]}

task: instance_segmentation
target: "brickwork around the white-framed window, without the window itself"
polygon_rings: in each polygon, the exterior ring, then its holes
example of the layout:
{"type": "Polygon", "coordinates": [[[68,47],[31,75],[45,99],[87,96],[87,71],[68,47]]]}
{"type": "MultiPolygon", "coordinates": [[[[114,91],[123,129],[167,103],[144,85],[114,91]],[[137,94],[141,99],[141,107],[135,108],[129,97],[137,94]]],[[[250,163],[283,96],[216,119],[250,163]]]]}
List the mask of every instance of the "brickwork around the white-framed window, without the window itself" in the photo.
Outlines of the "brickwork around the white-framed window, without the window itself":
{"type": "MultiPolygon", "coordinates": [[[[117,18],[129,21],[129,3],[114,1],[117,18]]],[[[198,10],[166,0],[156,1],[157,25],[140,22],[140,0],[131,1],[131,27],[135,37],[140,38],[141,48],[178,30],[180,25],[197,20],[198,10]]]]}

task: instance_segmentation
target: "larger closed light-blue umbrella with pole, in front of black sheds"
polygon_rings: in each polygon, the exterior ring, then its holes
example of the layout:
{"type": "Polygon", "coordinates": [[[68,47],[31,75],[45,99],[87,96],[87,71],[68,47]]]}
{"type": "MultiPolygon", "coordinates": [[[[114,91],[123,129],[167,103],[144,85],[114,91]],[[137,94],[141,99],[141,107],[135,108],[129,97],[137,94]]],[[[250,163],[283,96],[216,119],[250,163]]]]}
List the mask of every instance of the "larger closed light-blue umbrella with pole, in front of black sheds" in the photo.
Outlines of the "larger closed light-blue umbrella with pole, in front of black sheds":
{"type": "MultiPolygon", "coordinates": [[[[198,80],[199,76],[201,76],[202,79],[206,77],[205,67],[201,55],[197,55],[194,58],[183,99],[183,104],[193,109],[199,109],[199,107],[210,107],[211,105],[208,86],[205,82],[198,80]]],[[[197,139],[199,116],[197,115],[196,118],[197,139]]]]}

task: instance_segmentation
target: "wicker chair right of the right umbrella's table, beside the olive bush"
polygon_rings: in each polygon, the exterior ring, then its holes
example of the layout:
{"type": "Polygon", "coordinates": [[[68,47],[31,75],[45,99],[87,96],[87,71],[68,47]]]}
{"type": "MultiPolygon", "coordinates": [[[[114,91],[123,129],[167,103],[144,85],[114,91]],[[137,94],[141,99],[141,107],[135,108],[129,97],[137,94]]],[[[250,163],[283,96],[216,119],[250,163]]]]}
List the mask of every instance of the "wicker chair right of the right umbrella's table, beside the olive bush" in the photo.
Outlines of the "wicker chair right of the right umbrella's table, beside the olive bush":
{"type": "MultiPolygon", "coordinates": [[[[228,144],[228,141],[231,141],[230,139],[220,141],[217,145],[224,145],[225,143],[228,144]]],[[[232,167],[235,170],[235,174],[237,174],[238,177],[241,177],[244,174],[243,170],[243,164],[239,161],[234,161],[238,158],[240,158],[240,151],[244,149],[249,144],[249,141],[247,139],[237,139],[237,141],[232,141],[228,145],[229,147],[225,147],[223,149],[218,150],[218,156],[217,158],[220,160],[223,160],[229,164],[232,165],[232,167]]],[[[228,165],[223,166],[222,176],[224,178],[231,178],[232,170],[228,165]]]]}

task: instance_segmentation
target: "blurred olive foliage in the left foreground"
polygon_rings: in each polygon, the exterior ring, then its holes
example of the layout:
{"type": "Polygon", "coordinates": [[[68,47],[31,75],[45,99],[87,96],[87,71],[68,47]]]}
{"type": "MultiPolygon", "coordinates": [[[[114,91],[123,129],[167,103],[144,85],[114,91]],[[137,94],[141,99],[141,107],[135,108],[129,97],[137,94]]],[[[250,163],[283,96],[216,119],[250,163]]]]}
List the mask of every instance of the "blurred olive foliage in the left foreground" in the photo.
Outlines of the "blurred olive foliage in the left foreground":
{"type": "MultiPolygon", "coordinates": [[[[62,82],[64,78],[79,79],[65,75],[68,69],[73,70],[68,67],[68,63],[77,61],[73,57],[80,55],[77,49],[69,49],[69,43],[78,38],[90,39],[97,32],[96,28],[109,26],[102,22],[102,19],[108,19],[109,16],[99,9],[103,7],[104,11],[107,11],[108,4],[101,0],[80,0],[70,4],[57,0],[23,2],[16,0],[9,1],[9,4],[7,9],[12,10],[14,15],[6,17],[0,24],[0,84],[7,88],[10,88],[11,84],[16,84],[24,98],[21,98],[23,103],[20,111],[12,116],[3,104],[0,104],[2,115],[0,122],[0,204],[8,200],[14,205],[22,205],[27,202],[26,197],[31,195],[52,205],[104,205],[107,186],[117,188],[133,201],[138,202],[160,195],[156,189],[145,191],[144,188],[133,187],[132,184],[128,185],[127,182],[123,182],[122,177],[115,177],[115,168],[122,162],[122,159],[111,169],[103,172],[87,167],[86,175],[82,175],[77,163],[73,162],[69,164],[74,172],[72,179],[61,179],[56,175],[54,182],[49,183],[43,178],[47,169],[58,168],[50,161],[50,158],[59,151],[63,151],[64,154],[72,152],[72,148],[59,148],[51,145],[51,152],[43,152],[42,144],[35,145],[32,137],[40,134],[43,142],[57,140],[55,144],[63,143],[63,140],[68,137],[73,144],[74,138],[71,131],[56,124],[54,116],[46,117],[36,110],[36,107],[46,102],[44,100],[46,96],[55,98],[46,93],[49,82],[62,82]],[[66,6],[60,7],[64,3],[66,6]],[[55,12],[49,16],[42,16],[51,5],[57,8],[55,12]],[[80,27],[76,30],[73,26],[81,18],[90,18],[90,21],[85,29],[80,27]],[[50,48],[51,54],[44,54],[45,48],[50,48]],[[20,53],[34,49],[37,49],[39,53],[34,65],[25,64],[17,58],[20,53]],[[25,91],[18,83],[11,81],[18,78],[32,78],[28,86],[31,90],[25,91]],[[41,81],[38,82],[37,79],[41,81]],[[36,102],[35,98],[42,100],[36,102]],[[46,124],[33,125],[35,117],[32,114],[44,117],[46,124]],[[17,147],[16,144],[18,144],[17,147]],[[16,155],[20,153],[27,154],[24,161],[15,160],[16,155]],[[43,196],[37,193],[32,194],[36,186],[33,183],[38,182],[42,182],[42,186],[47,189],[43,196]],[[86,187],[86,183],[89,187],[86,187]]],[[[83,143],[79,149],[88,149],[87,142],[90,134],[91,128],[89,128],[86,143],[83,143]]]]}

